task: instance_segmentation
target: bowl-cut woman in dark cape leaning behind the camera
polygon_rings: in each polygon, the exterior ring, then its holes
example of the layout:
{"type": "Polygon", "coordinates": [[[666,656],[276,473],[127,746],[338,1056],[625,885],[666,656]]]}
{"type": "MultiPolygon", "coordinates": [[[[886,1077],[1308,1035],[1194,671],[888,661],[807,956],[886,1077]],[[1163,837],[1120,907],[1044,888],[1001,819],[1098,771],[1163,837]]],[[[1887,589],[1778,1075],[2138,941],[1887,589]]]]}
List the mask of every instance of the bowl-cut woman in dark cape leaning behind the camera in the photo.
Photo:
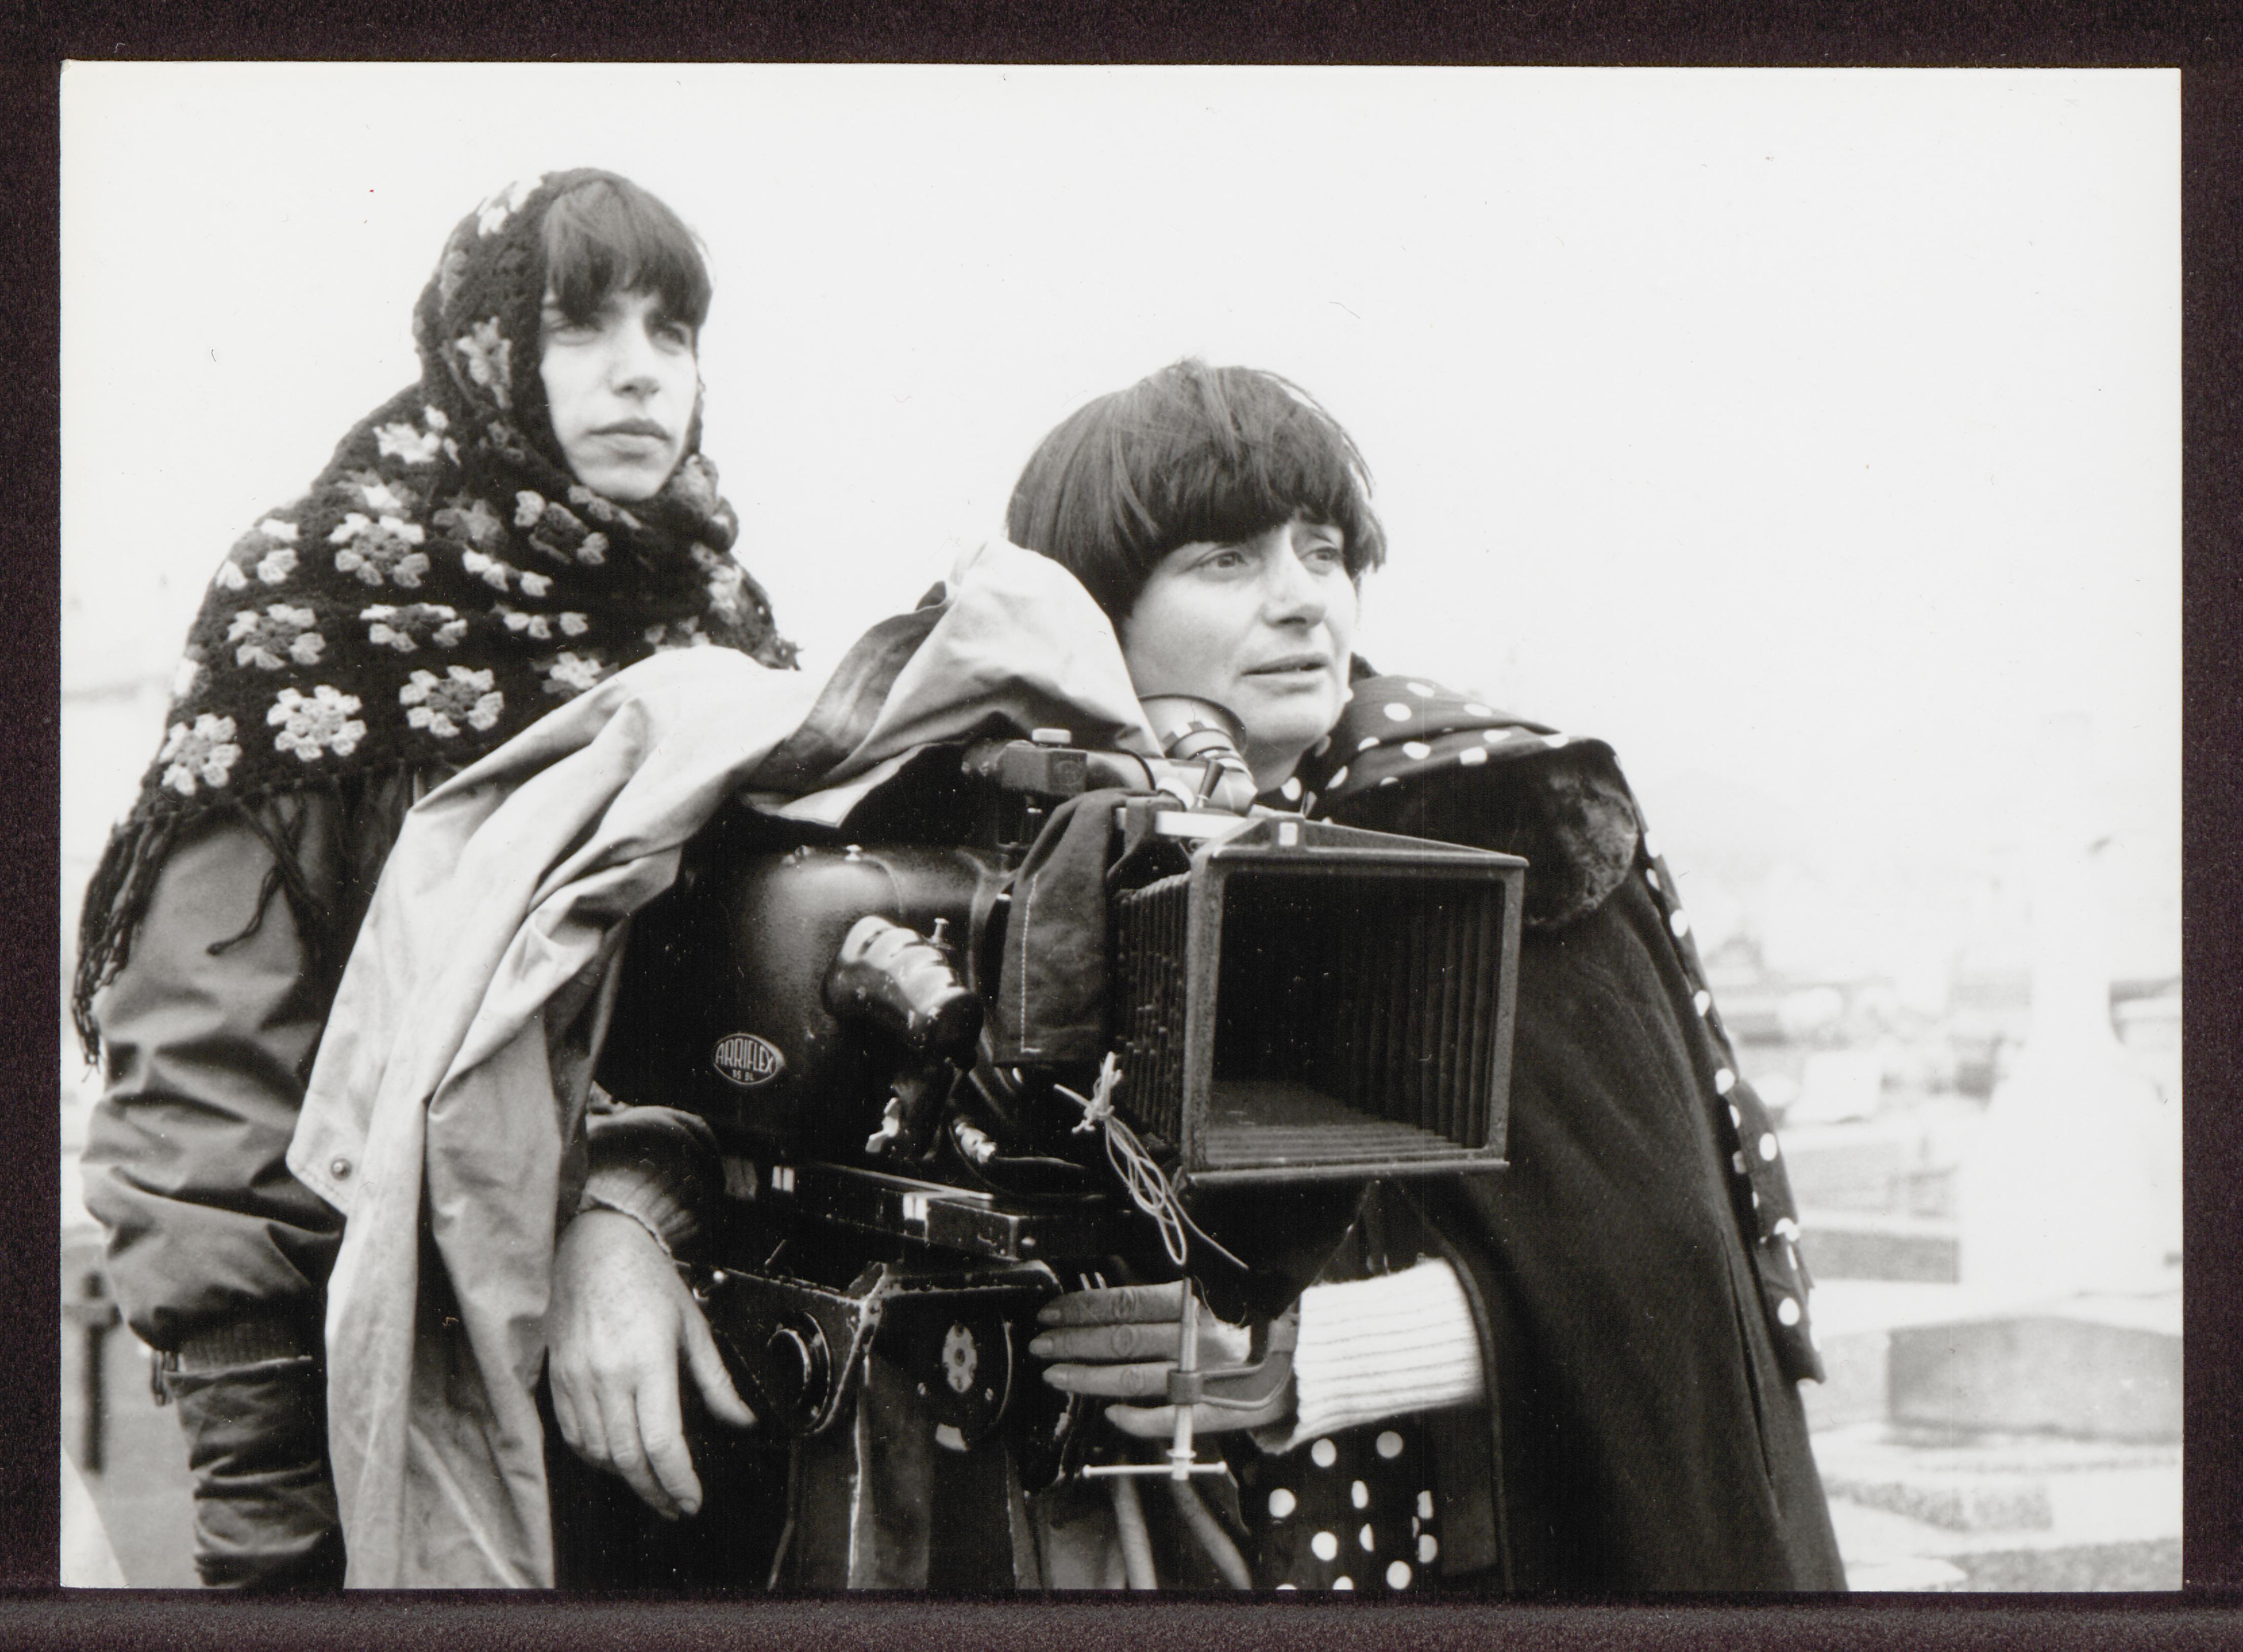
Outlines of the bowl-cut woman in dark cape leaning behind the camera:
{"type": "MultiPolygon", "coordinates": [[[[1092,401],[1009,531],[1090,590],[1139,695],[1238,715],[1265,802],[1530,861],[1510,1168],[1375,1188],[1301,1300],[1292,1392],[1200,1410],[1261,1426],[1231,1450],[1254,1580],[1842,1589],[1776,1139],[1610,749],[1350,663],[1384,538],[1353,442],[1272,374],[1187,361],[1092,401]]],[[[1128,1401],[1173,1320],[1173,1289],[1081,1291],[1032,1352],[1128,1401]]]]}

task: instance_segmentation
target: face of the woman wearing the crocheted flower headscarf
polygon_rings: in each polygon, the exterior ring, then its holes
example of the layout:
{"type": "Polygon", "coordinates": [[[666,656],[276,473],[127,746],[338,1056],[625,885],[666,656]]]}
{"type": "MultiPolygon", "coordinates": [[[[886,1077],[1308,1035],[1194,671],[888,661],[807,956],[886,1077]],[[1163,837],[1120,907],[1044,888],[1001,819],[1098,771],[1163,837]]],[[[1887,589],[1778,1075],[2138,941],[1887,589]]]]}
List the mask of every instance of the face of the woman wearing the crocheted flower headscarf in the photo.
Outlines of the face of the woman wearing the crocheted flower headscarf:
{"type": "Polygon", "coordinates": [[[608,294],[588,321],[547,294],[541,350],[545,406],[576,480],[624,504],[659,493],[693,426],[693,330],[650,291],[608,294]]]}

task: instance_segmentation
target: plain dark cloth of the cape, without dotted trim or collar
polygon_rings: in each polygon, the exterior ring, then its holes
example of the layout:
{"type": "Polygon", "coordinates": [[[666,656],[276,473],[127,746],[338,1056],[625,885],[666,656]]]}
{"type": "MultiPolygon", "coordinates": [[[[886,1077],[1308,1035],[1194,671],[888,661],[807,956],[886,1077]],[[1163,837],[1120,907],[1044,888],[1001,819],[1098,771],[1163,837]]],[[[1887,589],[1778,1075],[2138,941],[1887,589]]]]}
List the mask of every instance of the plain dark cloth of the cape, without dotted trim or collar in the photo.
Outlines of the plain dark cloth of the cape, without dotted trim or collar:
{"type": "Polygon", "coordinates": [[[1844,1589],[1642,879],[1519,959],[1510,1170],[1436,1222],[1489,1320],[1516,1589],[1844,1589]]]}

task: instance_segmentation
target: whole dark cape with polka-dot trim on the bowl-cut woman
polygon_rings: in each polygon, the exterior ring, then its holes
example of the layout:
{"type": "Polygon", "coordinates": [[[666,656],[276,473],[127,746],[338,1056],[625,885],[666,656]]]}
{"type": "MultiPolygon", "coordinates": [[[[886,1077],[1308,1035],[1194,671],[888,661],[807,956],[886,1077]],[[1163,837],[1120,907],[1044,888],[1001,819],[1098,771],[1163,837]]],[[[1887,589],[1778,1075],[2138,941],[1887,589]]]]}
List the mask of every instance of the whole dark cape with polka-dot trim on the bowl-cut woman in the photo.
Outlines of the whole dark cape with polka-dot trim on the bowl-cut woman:
{"type": "Polygon", "coordinates": [[[1797,1392],[1821,1376],[1797,1213],[1673,879],[1604,746],[1458,767],[1449,720],[1424,722],[1427,755],[1335,816],[1530,861],[1510,1168],[1415,1195],[1485,1316],[1489,1583],[1842,1589],[1797,1392]]]}

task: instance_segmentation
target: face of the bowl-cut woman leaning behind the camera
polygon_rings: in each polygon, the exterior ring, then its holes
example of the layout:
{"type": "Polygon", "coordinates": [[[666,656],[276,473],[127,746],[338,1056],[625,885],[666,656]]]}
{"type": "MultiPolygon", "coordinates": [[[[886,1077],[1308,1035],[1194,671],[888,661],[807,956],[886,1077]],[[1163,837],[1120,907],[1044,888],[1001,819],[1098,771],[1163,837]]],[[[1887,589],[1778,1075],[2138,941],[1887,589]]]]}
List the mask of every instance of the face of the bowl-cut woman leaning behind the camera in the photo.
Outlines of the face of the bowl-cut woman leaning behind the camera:
{"type": "Polygon", "coordinates": [[[1122,657],[1139,699],[1229,708],[1267,791],[1339,722],[1355,603],[1341,531],[1296,516],[1236,545],[1169,551],[1122,621],[1122,657]]]}

